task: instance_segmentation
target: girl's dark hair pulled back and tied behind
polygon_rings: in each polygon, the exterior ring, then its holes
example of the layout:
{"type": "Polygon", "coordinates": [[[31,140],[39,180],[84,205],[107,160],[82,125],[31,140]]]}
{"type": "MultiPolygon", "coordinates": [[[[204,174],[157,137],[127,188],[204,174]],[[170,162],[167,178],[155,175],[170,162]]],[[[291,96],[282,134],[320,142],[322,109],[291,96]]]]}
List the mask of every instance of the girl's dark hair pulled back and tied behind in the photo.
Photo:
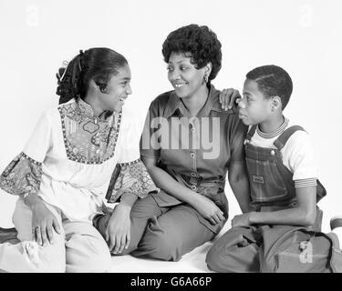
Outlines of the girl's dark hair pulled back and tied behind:
{"type": "Polygon", "coordinates": [[[67,67],[57,72],[57,95],[59,104],[72,98],[84,98],[87,95],[90,80],[104,92],[113,75],[118,74],[120,67],[128,62],[123,55],[107,47],[89,48],[76,55],[67,67]]]}

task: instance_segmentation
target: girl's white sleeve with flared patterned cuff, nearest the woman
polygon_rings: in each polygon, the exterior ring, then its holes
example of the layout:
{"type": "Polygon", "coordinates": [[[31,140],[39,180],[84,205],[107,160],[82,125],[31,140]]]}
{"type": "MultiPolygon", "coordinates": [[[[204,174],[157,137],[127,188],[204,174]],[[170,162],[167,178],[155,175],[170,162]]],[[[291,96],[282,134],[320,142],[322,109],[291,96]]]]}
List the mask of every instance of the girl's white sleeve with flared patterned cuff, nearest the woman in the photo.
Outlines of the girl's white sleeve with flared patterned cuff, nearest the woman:
{"type": "Polygon", "coordinates": [[[150,192],[159,192],[153,183],[145,165],[140,160],[139,130],[135,118],[123,115],[120,127],[121,139],[119,146],[119,161],[111,176],[106,199],[109,203],[117,202],[124,193],[132,193],[140,198],[150,192]]]}

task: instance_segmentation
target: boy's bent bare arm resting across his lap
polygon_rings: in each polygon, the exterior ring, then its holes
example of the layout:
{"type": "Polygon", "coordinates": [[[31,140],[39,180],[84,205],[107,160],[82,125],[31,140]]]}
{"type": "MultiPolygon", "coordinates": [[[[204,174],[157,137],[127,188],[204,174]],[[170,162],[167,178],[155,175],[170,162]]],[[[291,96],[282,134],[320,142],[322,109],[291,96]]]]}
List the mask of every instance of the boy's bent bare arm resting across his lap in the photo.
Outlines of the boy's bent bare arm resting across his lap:
{"type": "Polygon", "coordinates": [[[316,220],[316,186],[295,189],[298,206],[274,212],[251,212],[249,223],[266,225],[312,226],[316,220]]]}

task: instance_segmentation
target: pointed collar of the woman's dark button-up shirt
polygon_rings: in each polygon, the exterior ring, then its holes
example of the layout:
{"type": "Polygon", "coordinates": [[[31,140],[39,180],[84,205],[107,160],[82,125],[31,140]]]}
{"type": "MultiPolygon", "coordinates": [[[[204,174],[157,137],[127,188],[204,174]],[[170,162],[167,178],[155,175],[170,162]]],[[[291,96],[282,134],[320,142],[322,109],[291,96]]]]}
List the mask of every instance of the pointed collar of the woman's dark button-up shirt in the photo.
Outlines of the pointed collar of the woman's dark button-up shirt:
{"type": "MultiPolygon", "coordinates": [[[[216,112],[225,112],[220,104],[219,94],[220,91],[216,90],[215,87],[211,85],[209,88],[208,98],[202,106],[200,112],[198,113],[198,116],[206,117],[210,114],[212,110],[216,112]]],[[[188,110],[181,102],[181,98],[176,95],[175,91],[171,91],[166,108],[167,109],[164,114],[165,118],[169,118],[171,115],[175,113],[177,109],[181,111],[182,115],[187,115],[186,113],[188,112],[188,110]]],[[[230,112],[233,112],[233,110],[228,110],[228,113],[230,112]]]]}

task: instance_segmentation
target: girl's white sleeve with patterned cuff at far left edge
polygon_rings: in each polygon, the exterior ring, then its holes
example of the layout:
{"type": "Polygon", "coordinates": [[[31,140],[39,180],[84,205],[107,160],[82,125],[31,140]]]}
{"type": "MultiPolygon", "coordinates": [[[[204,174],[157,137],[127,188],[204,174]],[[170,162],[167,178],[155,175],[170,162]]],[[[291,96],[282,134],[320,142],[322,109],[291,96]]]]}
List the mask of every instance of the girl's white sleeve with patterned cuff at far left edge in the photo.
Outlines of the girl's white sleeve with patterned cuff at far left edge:
{"type": "Polygon", "coordinates": [[[24,151],[13,159],[0,176],[0,188],[12,195],[36,194],[40,187],[42,162],[50,146],[50,125],[42,115],[24,151]]]}

